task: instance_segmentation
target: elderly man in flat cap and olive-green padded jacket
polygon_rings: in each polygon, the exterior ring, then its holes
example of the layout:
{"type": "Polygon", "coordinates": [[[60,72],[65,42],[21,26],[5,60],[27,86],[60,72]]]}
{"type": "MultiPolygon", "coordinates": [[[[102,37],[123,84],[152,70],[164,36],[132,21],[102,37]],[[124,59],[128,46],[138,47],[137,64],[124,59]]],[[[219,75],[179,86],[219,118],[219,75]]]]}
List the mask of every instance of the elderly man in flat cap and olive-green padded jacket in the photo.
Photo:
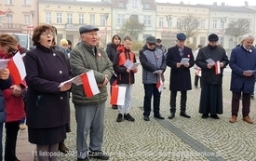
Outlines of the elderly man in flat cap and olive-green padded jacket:
{"type": "Polygon", "coordinates": [[[78,161],[88,161],[88,157],[109,159],[109,156],[101,151],[101,147],[104,111],[108,99],[106,85],[113,74],[113,63],[109,60],[107,53],[97,47],[98,31],[99,28],[93,25],[81,26],[79,33],[82,41],[73,48],[70,54],[72,73],[74,76],[83,74],[81,75],[83,85],[72,87],[72,101],[77,124],[78,161]],[[89,73],[92,76],[89,76],[89,73]]]}

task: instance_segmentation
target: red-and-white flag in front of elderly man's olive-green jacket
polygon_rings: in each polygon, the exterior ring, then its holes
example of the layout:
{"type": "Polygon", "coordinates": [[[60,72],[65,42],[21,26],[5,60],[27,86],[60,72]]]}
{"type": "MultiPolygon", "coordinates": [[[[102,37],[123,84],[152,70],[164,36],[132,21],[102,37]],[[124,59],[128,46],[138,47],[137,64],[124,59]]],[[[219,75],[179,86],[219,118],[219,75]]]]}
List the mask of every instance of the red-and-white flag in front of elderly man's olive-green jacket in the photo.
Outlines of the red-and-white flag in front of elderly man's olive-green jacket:
{"type": "Polygon", "coordinates": [[[83,83],[84,91],[88,98],[100,93],[92,70],[88,71],[86,74],[81,74],[80,77],[83,83]]]}

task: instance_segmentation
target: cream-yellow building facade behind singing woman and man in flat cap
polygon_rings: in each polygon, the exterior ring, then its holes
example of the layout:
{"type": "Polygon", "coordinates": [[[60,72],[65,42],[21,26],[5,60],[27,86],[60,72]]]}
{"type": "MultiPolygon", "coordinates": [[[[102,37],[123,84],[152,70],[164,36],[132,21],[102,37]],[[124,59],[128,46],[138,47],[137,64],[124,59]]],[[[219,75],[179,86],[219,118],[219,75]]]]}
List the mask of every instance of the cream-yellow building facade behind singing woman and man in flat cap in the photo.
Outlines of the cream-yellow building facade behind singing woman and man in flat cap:
{"type": "Polygon", "coordinates": [[[99,27],[102,46],[110,40],[112,9],[109,3],[38,0],[38,11],[39,24],[52,24],[58,29],[57,42],[66,38],[77,44],[80,41],[79,28],[84,24],[99,27]]]}

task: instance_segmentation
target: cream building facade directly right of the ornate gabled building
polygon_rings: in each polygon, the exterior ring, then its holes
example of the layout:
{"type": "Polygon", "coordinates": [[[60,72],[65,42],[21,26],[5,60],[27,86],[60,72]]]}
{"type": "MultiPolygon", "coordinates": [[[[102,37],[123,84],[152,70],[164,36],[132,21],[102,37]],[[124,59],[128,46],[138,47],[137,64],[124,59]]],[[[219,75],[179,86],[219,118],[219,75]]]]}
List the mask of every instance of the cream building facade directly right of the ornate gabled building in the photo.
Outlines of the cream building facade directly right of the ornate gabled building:
{"type": "Polygon", "coordinates": [[[161,38],[166,47],[176,44],[176,34],[190,32],[195,34],[188,37],[187,45],[193,48],[199,44],[206,45],[209,34],[209,7],[157,3],[155,25],[156,37],[161,38]],[[194,21],[196,27],[182,27],[184,21],[194,21]]]}

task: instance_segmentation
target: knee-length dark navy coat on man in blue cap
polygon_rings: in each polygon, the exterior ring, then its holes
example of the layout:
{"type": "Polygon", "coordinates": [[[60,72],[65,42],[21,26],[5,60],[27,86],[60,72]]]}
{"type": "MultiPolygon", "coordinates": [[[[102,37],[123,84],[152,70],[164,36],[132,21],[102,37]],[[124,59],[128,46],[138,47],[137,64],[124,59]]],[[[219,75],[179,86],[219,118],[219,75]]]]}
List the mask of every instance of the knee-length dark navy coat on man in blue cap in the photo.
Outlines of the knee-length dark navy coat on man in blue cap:
{"type": "Polygon", "coordinates": [[[171,68],[169,76],[169,90],[171,91],[186,91],[191,90],[191,75],[190,68],[194,66],[195,60],[190,47],[183,48],[183,56],[181,56],[179,47],[170,47],[167,52],[167,65],[171,68]],[[189,58],[189,67],[181,65],[177,68],[177,63],[181,62],[182,58],[189,58]]]}

